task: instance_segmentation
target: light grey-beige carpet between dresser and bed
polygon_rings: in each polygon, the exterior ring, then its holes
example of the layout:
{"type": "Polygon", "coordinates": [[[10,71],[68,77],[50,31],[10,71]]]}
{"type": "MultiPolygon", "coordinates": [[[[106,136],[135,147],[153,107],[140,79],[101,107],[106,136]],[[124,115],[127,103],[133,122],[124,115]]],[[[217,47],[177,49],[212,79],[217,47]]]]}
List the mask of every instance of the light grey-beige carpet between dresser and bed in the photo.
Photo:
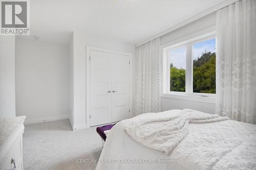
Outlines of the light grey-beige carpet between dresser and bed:
{"type": "Polygon", "coordinates": [[[77,159],[98,159],[101,147],[95,127],[72,131],[68,119],[25,125],[24,169],[95,169],[77,159]]]}

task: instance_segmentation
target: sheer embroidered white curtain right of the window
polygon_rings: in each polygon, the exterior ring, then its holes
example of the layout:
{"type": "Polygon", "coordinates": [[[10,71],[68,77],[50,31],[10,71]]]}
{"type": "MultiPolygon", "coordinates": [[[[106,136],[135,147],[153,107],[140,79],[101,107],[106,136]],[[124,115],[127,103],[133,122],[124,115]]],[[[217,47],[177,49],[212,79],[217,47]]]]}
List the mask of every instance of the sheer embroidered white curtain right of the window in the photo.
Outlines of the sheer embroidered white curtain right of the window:
{"type": "Polygon", "coordinates": [[[255,0],[217,11],[218,114],[256,123],[255,0]]]}

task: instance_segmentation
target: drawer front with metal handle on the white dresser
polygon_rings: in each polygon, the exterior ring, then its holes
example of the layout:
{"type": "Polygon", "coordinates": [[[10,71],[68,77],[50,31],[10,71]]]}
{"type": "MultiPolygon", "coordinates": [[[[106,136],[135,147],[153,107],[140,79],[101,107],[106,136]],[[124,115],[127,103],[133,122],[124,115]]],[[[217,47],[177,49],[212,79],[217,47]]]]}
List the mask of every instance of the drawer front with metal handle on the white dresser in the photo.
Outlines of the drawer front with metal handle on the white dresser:
{"type": "Polygon", "coordinates": [[[22,161],[22,136],[20,136],[14,143],[11,152],[7,156],[7,159],[5,160],[0,170],[9,170],[13,168],[14,162],[12,162],[12,159],[14,159],[16,169],[18,169],[18,166],[22,165],[20,164],[20,162],[22,161]]]}

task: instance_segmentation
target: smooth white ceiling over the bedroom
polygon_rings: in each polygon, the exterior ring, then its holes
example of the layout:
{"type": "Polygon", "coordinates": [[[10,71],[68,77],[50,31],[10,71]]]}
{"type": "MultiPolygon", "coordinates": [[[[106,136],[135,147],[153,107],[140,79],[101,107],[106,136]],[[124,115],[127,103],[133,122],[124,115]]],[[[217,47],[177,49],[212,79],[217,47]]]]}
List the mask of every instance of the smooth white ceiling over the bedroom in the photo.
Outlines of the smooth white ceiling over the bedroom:
{"type": "Polygon", "coordinates": [[[224,1],[31,0],[30,31],[66,44],[74,30],[137,44],[224,1]]]}

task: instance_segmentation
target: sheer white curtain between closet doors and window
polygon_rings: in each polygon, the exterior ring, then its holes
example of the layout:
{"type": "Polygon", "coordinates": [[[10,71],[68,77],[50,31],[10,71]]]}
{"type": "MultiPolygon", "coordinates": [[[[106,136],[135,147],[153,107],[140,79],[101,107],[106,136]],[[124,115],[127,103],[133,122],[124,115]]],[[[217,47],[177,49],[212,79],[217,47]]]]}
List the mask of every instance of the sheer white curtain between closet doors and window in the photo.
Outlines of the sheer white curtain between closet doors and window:
{"type": "Polygon", "coordinates": [[[160,38],[136,48],[134,115],[160,112],[160,38]]]}

